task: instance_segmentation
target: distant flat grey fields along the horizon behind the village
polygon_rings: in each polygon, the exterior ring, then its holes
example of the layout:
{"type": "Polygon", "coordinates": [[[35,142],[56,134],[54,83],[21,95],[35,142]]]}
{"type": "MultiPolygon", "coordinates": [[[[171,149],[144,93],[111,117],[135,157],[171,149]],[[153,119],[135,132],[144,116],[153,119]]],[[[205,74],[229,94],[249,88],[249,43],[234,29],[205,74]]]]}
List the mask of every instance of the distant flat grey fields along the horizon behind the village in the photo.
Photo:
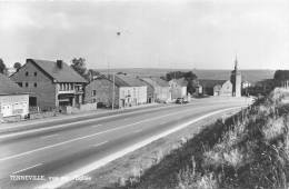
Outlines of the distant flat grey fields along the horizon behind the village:
{"type": "MultiPolygon", "coordinates": [[[[108,70],[101,69],[97,70],[102,73],[107,73],[108,70]]],[[[161,77],[166,76],[167,72],[175,71],[173,69],[150,69],[150,68],[132,68],[132,69],[111,69],[110,72],[126,72],[128,74],[139,76],[139,77],[161,77]]],[[[176,71],[192,71],[198,76],[199,79],[216,79],[216,80],[227,80],[230,78],[230,70],[189,70],[181,69],[176,71]]],[[[275,70],[241,70],[243,80],[248,80],[251,83],[263,79],[272,79],[275,70]]]]}

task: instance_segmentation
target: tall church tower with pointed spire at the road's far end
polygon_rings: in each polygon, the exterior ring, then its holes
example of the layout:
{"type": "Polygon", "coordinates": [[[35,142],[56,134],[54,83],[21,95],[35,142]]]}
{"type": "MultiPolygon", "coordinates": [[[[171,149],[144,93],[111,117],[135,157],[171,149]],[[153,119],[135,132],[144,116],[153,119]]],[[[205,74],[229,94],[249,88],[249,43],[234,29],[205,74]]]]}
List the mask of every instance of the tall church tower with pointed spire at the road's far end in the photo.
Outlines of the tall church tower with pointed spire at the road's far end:
{"type": "Polygon", "coordinates": [[[235,69],[231,71],[232,97],[241,97],[241,73],[238,70],[238,59],[235,59],[235,69]]]}

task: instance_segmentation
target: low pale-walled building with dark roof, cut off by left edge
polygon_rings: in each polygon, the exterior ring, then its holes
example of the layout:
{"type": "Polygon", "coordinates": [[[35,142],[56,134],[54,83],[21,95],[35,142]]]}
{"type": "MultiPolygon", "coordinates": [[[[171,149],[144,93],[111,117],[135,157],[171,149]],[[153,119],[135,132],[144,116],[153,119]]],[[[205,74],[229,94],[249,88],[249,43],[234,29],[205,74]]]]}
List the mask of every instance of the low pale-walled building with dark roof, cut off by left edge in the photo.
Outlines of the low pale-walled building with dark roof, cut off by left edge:
{"type": "Polygon", "coordinates": [[[29,94],[0,73],[0,121],[7,117],[24,118],[29,113],[29,94]]]}

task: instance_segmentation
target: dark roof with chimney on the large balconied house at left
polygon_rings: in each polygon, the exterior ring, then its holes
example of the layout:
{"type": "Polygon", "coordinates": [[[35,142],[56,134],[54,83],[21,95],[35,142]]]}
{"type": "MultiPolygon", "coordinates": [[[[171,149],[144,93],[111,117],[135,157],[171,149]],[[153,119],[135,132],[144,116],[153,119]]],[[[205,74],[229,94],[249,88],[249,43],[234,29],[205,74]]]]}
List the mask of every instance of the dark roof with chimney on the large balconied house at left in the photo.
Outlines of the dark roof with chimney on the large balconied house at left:
{"type": "Polygon", "coordinates": [[[70,68],[66,62],[62,62],[62,67],[59,68],[56,61],[36,59],[28,59],[27,61],[31,61],[38,66],[42,71],[58,82],[87,82],[84,78],[70,68]]]}

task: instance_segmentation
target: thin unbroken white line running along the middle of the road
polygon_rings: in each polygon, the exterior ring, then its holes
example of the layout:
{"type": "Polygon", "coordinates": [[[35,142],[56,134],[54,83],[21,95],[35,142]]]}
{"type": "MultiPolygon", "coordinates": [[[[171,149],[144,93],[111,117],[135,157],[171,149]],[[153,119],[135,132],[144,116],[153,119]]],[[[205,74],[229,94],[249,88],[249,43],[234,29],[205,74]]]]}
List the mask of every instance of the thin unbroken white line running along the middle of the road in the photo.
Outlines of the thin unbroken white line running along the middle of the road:
{"type": "Polygon", "coordinates": [[[131,126],[136,126],[136,125],[143,123],[143,122],[149,122],[149,121],[152,121],[152,120],[157,120],[157,119],[165,118],[165,117],[170,117],[172,115],[178,115],[180,112],[187,112],[187,111],[191,111],[191,110],[178,111],[177,113],[175,112],[175,113],[163,115],[163,116],[160,116],[160,117],[146,119],[146,120],[141,120],[141,121],[138,121],[138,122],[130,123],[130,125],[126,125],[126,126],[120,126],[120,127],[117,127],[117,128],[108,129],[108,130],[104,130],[104,131],[101,131],[101,132],[96,132],[96,133],[92,133],[92,135],[78,137],[78,138],[74,138],[74,139],[71,139],[71,140],[67,140],[67,141],[63,141],[63,142],[59,142],[59,143],[54,143],[54,145],[51,145],[51,146],[46,146],[46,147],[37,148],[34,150],[26,151],[26,152],[22,152],[22,153],[18,153],[18,155],[12,155],[12,156],[9,156],[9,157],[0,158],[0,161],[6,161],[6,160],[9,160],[9,159],[19,158],[19,157],[27,156],[27,155],[30,155],[30,153],[33,153],[33,152],[38,152],[38,151],[42,151],[42,150],[46,150],[46,149],[59,147],[59,146],[71,143],[71,142],[74,142],[74,141],[78,141],[78,140],[91,138],[91,137],[99,136],[99,135],[102,135],[102,133],[107,133],[107,132],[111,132],[111,131],[114,131],[114,130],[124,129],[124,128],[128,128],[128,127],[131,127],[131,126]]]}

